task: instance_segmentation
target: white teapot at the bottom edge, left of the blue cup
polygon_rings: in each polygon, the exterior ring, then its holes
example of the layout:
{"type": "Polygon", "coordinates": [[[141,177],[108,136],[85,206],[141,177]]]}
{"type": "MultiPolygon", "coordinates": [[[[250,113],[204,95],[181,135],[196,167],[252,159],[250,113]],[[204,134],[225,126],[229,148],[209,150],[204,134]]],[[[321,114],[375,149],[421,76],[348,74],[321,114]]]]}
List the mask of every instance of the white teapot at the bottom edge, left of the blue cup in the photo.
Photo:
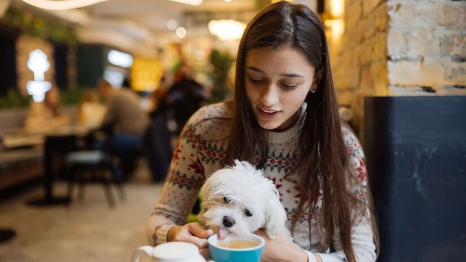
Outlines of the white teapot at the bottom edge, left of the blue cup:
{"type": "Polygon", "coordinates": [[[139,262],[139,256],[144,253],[151,257],[152,262],[206,262],[199,254],[199,248],[187,242],[168,242],[156,247],[137,248],[131,262],[139,262]]]}

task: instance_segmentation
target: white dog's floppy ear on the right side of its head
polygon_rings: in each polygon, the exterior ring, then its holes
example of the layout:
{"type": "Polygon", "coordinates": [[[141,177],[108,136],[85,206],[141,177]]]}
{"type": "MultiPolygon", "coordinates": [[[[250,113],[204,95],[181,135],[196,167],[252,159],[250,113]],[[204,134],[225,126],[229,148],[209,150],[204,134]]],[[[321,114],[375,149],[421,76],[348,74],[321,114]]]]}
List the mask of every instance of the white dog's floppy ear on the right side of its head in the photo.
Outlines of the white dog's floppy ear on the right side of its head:
{"type": "MultiPolygon", "coordinates": [[[[270,181],[271,182],[271,181],[270,181]]],[[[271,182],[273,185],[273,183],[271,182]]],[[[274,185],[273,185],[274,186],[274,185]]],[[[275,238],[278,231],[285,227],[287,214],[280,203],[280,197],[275,186],[269,198],[267,198],[267,211],[265,218],[265,228],[268,237],[275,238]]]]}

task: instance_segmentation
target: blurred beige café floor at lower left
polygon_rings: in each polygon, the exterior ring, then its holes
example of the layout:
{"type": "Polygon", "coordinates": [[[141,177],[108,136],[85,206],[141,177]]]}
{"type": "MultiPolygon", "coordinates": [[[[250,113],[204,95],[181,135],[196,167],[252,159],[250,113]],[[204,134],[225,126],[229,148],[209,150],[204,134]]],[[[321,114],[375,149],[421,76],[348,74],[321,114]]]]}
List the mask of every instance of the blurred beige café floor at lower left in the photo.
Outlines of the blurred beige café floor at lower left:
{"type": "MultiPolygon", "coordinates": [[[[65,186],[56,184],[55,192],[64,193],[65,186]]],[[[129,262],[132,252],[147,244],[145,223],[160,190],[147,172],[138,172],[125,185],[127,199],[113,209],[98,184],[88,185],[83,201],[69,207],[27,206],[26,200],[41,195],[40,187],[0,201],[0,228],[17,233],[0,244],[0,262],[129,262]]]]}

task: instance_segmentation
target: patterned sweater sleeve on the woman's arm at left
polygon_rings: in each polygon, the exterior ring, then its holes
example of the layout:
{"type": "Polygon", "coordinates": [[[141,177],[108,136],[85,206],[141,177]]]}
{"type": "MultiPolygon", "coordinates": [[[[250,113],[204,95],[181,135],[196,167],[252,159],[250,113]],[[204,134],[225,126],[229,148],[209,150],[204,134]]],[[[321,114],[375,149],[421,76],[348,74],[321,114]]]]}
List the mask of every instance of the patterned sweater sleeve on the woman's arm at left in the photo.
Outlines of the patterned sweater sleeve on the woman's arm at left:
{"type": "Polygon", "coordinates": [[[190,118],[178,138],[167,178],[149,217],[147,231],[152,245],[166,242],[172,226],[185,224],[204,183],[204,167],[199,159],[201,131],[194,124],[199,114],[190,118]]]}

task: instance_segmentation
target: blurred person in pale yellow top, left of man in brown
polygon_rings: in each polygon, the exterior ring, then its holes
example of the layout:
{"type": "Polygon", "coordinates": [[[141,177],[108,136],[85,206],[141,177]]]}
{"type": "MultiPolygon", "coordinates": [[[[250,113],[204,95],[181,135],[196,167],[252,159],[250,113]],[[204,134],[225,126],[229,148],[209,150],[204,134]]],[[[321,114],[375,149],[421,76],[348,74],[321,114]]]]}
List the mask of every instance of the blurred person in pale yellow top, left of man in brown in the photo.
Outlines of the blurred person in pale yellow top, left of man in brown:
{"type": "Polygon", "coordinates": [[[105,106],[100,103],[99,93],[96,90],[86,90],[78,106],[79,124],[96,128],[102,124],[105,111],[105,106]]]}

